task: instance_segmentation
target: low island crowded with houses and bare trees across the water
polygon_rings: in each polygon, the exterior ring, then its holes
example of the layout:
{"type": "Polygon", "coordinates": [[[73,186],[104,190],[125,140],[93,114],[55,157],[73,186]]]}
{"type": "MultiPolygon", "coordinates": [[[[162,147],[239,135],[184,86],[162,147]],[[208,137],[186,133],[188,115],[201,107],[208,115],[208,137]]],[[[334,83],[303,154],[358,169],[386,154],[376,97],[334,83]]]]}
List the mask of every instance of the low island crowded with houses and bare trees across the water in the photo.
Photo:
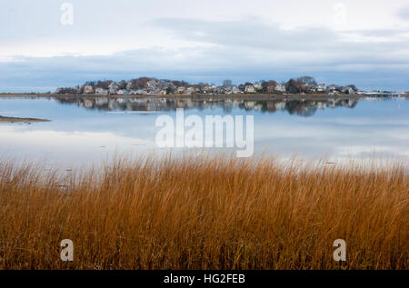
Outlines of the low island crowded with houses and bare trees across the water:
{"type": "MultiPolygon", "coordinates": [[[[310,77],[311,78],[311,77],[310,77]]],[[[97,94],[97,95],[165,95],[165,94],[369,94],[356,89],[354,85],[339,86],[317,84],[315,81],[304,83],[291,79],[287,83],[259,81],[234,85],[224,81],[223,85],[188,84],[184,81],[158,80],[141,77],[131,81],[88,82],[74,88],[58,88],[56,94],[97,94]]],[[[374,94],[382,94],[374,92],[374,94]]]]}

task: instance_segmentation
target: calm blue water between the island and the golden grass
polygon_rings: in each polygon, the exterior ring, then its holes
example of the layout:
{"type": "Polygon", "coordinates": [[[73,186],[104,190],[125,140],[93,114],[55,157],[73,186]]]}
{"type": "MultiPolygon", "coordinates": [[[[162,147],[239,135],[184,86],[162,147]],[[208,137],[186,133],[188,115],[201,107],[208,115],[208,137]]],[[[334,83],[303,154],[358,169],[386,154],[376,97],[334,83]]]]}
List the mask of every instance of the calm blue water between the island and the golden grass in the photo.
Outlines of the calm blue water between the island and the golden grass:
{"type": "Polygon", "coordinates": [[[409,101],[400,98],[321,102],[0,98],[2,116],[52,121],[0,124],[0,154],[71,166],[98,163],[115,152],[167,153],[155,144],[159,130],[155,120],[161,114],[175,117],[177,107],[184,107],[185,115],[204,119],[209,114],[254,115],[255,154],[307,158],[327,154],[333,160],[381,154],[409,159],[409,101]]]}

